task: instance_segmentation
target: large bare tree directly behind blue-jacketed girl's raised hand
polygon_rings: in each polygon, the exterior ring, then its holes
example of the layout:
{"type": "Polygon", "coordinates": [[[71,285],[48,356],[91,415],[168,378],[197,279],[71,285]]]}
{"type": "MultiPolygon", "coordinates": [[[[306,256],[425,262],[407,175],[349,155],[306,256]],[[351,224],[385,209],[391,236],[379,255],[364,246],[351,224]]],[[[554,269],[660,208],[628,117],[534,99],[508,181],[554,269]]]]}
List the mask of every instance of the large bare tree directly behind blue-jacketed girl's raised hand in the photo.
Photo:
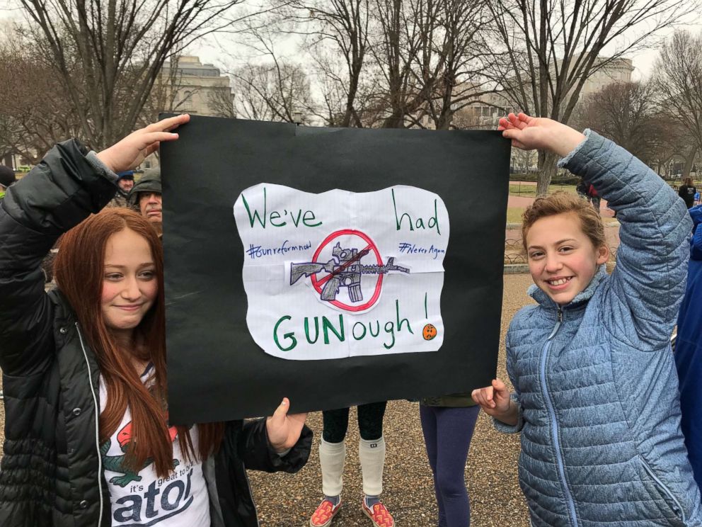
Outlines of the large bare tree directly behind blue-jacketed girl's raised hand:
{"type": "MultiPolygon", "coordinates": [[[[568,123],[592,74],[643,47],[650,35],[696,11],[699,2],[493,0],[488,6],[502,41],[491,62],[506,66],[495,78],[514,106],[568,123]],[[613,42],[623,43],[610,57],[599,57],[613,42]]],[[[539,154],[539,196],[548,191],[555,160],[552,154],[539,154]]]]}

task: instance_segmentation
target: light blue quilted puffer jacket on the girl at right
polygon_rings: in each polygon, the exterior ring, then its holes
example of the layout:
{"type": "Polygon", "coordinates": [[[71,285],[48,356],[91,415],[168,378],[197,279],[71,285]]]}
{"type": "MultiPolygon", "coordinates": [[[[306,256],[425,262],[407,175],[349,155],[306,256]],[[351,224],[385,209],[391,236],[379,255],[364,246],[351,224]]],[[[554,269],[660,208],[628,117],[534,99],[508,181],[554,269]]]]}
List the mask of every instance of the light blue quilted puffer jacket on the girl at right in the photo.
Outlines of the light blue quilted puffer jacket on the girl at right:
{"type": "Polygon", "coordinates": [[[645,164],[586,135],[560,165],[617,210],[616,269],[562,309],[531,287],[539,305],[507,334],[519,423],[495,426],[522,431],[519,483],[535,527],[702,526],[669,344],[690,217],[645,164]]]}

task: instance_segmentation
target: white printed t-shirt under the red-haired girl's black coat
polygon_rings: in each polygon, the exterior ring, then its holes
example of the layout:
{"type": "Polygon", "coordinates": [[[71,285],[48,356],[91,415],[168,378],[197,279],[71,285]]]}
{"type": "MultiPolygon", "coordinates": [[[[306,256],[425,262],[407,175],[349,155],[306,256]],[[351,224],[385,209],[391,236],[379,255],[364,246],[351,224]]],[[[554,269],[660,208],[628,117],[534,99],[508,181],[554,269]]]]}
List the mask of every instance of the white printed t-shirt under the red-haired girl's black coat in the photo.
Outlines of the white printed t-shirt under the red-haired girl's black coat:
{"type": "MultiPolygon", "coordinates": [[[[142,374],[149,381],[153,367],[142,374]]],[[[100,377],[100,412],[107,405],[107,389],[100,377]]],[[[180,453],[180,441],[172,426],[173,472],[168,477],[156,475],[154,465],[134,473],[122,466],[125,450],[131,441],[132,417],[129,407],[117,431],[100,445],[105,480],[110,490],[113,527],[209,527],[209,497],[202,476],[202,462],[185,463],[180,453]]],[[[197,427],[190,430],[192,445],[197,453],[197,427]]]]}

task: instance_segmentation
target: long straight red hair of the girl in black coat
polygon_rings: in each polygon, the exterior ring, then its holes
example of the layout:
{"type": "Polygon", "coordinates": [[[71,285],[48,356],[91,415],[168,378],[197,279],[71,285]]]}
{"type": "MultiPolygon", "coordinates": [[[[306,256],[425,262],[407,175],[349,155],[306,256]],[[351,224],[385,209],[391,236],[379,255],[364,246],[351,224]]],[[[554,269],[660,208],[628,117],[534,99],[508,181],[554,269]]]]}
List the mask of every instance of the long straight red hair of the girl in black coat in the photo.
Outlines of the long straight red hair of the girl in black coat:
{"type": "MultiPolygon", "coordinates": [[[[154,227],[137,212],[108,208],[69,230],[62,237],[54,260],[54,276],[95,352],[107,388],[107,404],[100,414],[100,443],[120,426],[127,407],[132,413],[132,441],[127,448],[127,465],[141,469],[148,459],[159,477],[173,471],[173,443],[168,434],[166,405],[166,317],[163,300],[163,249],[154,227]],[[159,292],[156,302],[134,329],[135,345],[124,349],[105,324],[100,299],[105,274],[105,247],[113,234],[130,229],[151,248],[159,292]],[[132,357],[154,365],[153,383],[146,387],[134,369],[132,357]]],[[[187,426],[178,426],[180,448],[186,460],[205,459],[219,448],[224,424],[198,425],[195,453],[187,426]]]]}

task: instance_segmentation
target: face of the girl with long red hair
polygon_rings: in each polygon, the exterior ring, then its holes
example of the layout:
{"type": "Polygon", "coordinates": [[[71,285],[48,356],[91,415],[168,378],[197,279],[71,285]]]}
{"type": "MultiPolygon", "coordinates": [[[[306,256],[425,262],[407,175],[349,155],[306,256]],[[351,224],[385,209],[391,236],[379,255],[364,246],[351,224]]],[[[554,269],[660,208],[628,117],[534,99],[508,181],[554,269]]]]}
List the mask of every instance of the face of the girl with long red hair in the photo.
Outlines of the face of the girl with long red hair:
{"type": "Polygon", "coordinates": [[[158,292],[154,256],[146,239],[127,228],[110,236],[100,297],[108,329],[131,338],[158,292]]]}

